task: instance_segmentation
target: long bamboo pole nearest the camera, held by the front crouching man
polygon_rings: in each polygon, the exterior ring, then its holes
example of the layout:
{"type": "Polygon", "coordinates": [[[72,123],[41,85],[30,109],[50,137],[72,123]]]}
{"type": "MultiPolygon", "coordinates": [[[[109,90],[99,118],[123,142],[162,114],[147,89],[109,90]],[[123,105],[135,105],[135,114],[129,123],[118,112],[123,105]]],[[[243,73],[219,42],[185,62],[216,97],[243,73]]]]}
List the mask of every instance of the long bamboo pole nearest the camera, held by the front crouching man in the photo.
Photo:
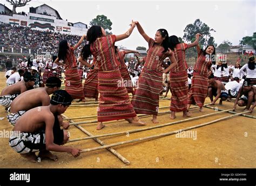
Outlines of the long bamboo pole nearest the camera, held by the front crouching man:
{"type": "Polygon", "coordinates": [[[237,113],[237,114],[235,114],[235,115],[227,116],[227,117],[220,118],[220,119],[215,119],[215,120],[209,121],[209,122],[207,122],[207,123],[203,123],[203,124],[194,125],[194,126],[191,126],[191,127],[182,128],[182,129],[180,129],[180,130],[176,130],[176,131],[172,131],[172,132],[161,133],[161,134],[157,134],[157,135],[151,135],[151,136],[149,136],[149,137],[137,138],[137,139],[133,139],[133,140],[129,140],[129,141],[116,142],[116,143],[114,143],[114,144],[104,145],[104,146],[100,146],[100,147],[86,148],[86,149],[83,149],[83,150],[80,151],[80,152],[81,152],[81,153],[84,153],[84,152],[97,151],[97,150],[99,150],[99,149],[104,149],[104,148],[109,148],[109,147],[114,147],[114,146],[119,146],[119,145],[124,145],[124,144],[131,144],[132,142],[145,141],[145,140],[154,139],[154,138],[161,138],[161,137],[165,137],[165,136],[167,136],[167,135],[177,134],[177,133],[182,132],[182,131],[191,130],[191,129],[193,129],[193,128],[198,128],[198,127],[203,127],[203,126],[206,126],[206,125],[210,125],[210,124],[216,123],[216,122],[218,122],[218,121],[222,121],[222,120],[225,120],[225,119],[229,119],[229,118],[232,118],[232,117],[234,117],[234,116],[239,116],[239,115],[242,115],[243,113],[248,113],[248,112],[249,112],[249,111],[237,113]]]}

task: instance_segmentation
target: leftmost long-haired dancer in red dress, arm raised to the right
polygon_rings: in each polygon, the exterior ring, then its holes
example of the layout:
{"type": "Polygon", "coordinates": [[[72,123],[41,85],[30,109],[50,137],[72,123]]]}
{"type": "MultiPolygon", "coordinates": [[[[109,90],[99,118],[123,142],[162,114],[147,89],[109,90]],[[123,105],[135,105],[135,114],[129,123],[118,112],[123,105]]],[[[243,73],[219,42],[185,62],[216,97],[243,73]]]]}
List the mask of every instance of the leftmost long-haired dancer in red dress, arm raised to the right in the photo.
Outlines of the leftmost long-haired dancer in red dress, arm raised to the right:
{"type": "Polygon", "coordinates": [[[60,41],[58,58],[55,60],[57,65],[65,66],[65,90],[73,99],[82,99],[83,102],[85,102],[83,85],[78,74],[77,60],[74,51],[82,44],[85,37],[86,36],[83,35],[74,47],[70,47],[66,40],[60,41]],[[59,60],[63,60],[63,63],[60,63],[59,60]]]}

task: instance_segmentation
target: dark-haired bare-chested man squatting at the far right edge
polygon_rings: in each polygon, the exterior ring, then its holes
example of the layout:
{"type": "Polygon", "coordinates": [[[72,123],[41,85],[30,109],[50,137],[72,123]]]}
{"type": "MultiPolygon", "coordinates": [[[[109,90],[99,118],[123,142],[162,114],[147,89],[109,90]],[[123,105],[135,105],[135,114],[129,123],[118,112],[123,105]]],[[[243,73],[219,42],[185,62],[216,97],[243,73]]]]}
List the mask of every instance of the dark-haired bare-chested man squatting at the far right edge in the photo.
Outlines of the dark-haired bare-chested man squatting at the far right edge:
{"type": "Polygon", "coordinates": [[[237,104],[239,106],[246,106],[244,111],[250,111],[252,113],[256,106],[256,87],[252,85],[250,78],[246,78],[242,87],[238,91],[237,98],[235,99],[233,110],[237,109],[237,104]],[[254,104],[252,105],[252,103],[254,104]],[[252,107],[251,107],[252,105],[252,107]],[[251,107],[251,108],[250,108],[251,107]]]}

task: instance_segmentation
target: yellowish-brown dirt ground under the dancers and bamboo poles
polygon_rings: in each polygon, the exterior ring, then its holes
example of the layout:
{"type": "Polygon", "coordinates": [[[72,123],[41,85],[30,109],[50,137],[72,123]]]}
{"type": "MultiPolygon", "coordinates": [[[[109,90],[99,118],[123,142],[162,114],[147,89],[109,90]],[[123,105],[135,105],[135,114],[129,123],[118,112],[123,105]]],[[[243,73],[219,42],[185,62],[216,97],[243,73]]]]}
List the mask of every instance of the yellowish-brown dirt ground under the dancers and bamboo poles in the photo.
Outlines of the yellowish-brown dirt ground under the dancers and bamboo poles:
{"type": "MultiPolygon", "coordinates": [[[[0,73],[0,90],[5,87],[4,73],[0,73]]],[[[170,97],[170,95],[169,95],[170,97]]],[[[89,102],[89,101],[88,101],[89,102]]],[[[207,98],[205,103],[210,103],[207,98]]],[[[224,102],[220,109],[232,109],[233,102],[224,102]]],[[[170,100],[160,101],[160,107],[169,106],[170,100]]],[[[244,108],[237,109],[241,112],[244,108]]],[[[161,109],[159,111],[169,111],[169,109],[161,109]]],[[[192,117],[213,113],[214,110],[204,108],[203,113],[199,109],[192,110],[192,117]]],[[[69,108],[64,115],[68,117],[94,116],[97,113],[97,106],[69,108]]],[[[177,113],[177,118],[169,119],[170,114],[158,116],[159,124],[170,123],[184,119],[181,113],[177,113]]],[[[112,137],[103,137],[100,140],[105,144],[112,144],[119,141],[127,141],[136,138],[147,137],[160,133],[179,130],[188,126],[206,123],[225,116],[230,113],[222,113],[219,115],[193,120],[186,123],[170,125],[166,127],[156,128],[153,130],[132,133],[129,136],[116,135],[112,137]]],[[[256,116],[254,110],[253,116],[256,116]]],[[[11,131],[12,125],[6,119],[4,108],[0,107],[0,131],[11,131]]],[[[143,118],[147,125],[145,127],[155,126],[151,122],[152,116],[143,118]]],[[[91,121],[94,119],[79,119],[77,121],[91,121]]],[[[115,155],[101,149],[93,152],[82,153],[78,158],[73,158],[68,153],[53,152],[58,156],[58,161],[42,160],[41,163],[31,163],[22,158],[8,145],[8,138],[0,138],[0,167],[1,168],[255,168],[255,152],[256,152],[256,125],[255,119],[237,116],[224,121],[219,121],[211,125],[194,128],[192,132],[197,132],[197,138],[177,138],[176,135],[146,140],[142,142],[134,142],[132,144],[113,147],[117,152],[130,161],[130,165],[126,165],[120,161],[115,155]]],[[[120,131],[128,131],[136,128],[144,128],[144,126],[136,126],[128,124],[127,121],[111,121],[106,123],[103,130],[96,130],[96,123],[83,124],[85,130],[90,133],[105,134],[120,131]]],[[[87,137],[82,131],[75,126],[70,126],[70,139],[87,137]]],[[[81,149],[100,146],[93,139],[70,142],[67,146],[74,146],[81,149]]]]}

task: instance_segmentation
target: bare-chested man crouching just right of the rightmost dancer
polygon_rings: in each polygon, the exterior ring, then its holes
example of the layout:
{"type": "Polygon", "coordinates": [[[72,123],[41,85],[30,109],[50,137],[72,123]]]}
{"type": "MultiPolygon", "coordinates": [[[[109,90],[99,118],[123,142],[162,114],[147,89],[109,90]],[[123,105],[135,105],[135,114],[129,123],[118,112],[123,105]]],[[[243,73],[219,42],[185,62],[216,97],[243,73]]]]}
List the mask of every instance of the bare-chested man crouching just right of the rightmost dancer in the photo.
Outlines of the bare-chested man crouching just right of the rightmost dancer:
{"type": "Polygon", "coordinates": [[[208,77],[208,96],[211,99],[211,105],[214,105],[219,98],[219,104],[221,105],[222,101],[228,98],[228,91],[225,89],[225,85],[218,80],[214,80],[213,74],[208,77]],[[213,96],[215,96],[214,100],[213,96]]]}

